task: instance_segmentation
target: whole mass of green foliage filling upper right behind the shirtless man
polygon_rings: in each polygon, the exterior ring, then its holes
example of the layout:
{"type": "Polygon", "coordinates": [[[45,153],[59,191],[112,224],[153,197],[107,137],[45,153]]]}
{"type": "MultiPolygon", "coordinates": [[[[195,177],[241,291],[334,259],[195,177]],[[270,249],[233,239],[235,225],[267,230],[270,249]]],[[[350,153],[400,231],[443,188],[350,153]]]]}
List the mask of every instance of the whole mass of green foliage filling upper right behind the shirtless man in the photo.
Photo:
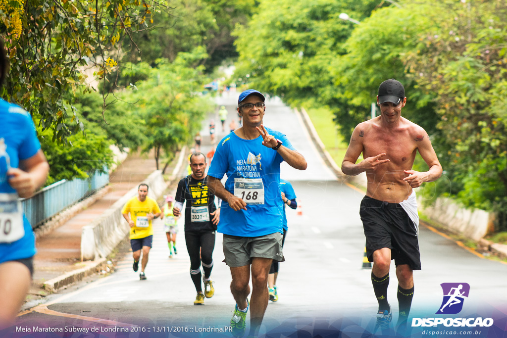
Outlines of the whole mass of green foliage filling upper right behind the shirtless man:
{"type": "Polygon", "coordinates": [[[262,2],[235,33],[238,76],[289,104],[328,107],[347,138],[369,118],[378,85],[401,81],[403,114],[428,132],[445,169],[433,192],[505,215],[507,4],[374,3],[262,2]]]}

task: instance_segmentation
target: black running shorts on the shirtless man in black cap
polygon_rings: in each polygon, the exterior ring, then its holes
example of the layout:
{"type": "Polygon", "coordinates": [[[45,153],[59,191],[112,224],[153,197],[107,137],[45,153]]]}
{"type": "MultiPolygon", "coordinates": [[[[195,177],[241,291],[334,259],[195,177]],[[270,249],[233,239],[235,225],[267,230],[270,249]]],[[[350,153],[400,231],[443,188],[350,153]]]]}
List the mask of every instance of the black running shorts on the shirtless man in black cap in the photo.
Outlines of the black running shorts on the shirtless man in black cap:
{"type": "Polygon", "coordinates": [[[359,215],[363,221],[366,254],[370,262],[373,261],[373,252],[390,248],[396,267],[408,264],[412,270],[421,270],[417,227],[399,203],[365,196],[359,215]]]}

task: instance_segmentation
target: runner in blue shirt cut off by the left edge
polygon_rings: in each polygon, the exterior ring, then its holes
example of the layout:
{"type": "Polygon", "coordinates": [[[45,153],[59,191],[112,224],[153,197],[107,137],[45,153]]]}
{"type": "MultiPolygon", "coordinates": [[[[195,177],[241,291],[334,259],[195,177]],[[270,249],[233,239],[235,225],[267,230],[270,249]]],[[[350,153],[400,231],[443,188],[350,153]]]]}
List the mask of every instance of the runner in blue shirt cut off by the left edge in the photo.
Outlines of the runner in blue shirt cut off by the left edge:
{"type": "MultiPolygon", "coordinates": [[[[0,85],[7,57],[0,39],[0,85]]],[[[0,330],[10,326],[23,304],[33,275],[35,236],[19,197],[44,184],[48,162],[30,114],[0,99],[0,330]]]]}

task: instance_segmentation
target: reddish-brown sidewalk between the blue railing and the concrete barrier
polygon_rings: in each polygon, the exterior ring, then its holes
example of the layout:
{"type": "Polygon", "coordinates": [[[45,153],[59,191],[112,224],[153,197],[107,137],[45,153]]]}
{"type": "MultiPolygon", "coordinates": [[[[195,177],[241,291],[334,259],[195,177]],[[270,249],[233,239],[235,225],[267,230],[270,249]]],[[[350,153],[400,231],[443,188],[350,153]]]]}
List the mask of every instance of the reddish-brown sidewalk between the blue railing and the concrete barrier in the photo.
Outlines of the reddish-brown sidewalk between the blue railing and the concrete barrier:
{"type": "MultiPolygon", "coordinates": [[[[173,171],[177,165],[176,160],[166,174],[173,171]]],[[[81,281],[89,275],[113,269],[113,262],[106,258],[81,261],[82,228],[155,170],[157,168],[152,154],[130,154],[111,173],[109,185],[35,230],[37,254],[34,256],[33,283],[27,303],[37,301],[49,292],[81,281]]]]}

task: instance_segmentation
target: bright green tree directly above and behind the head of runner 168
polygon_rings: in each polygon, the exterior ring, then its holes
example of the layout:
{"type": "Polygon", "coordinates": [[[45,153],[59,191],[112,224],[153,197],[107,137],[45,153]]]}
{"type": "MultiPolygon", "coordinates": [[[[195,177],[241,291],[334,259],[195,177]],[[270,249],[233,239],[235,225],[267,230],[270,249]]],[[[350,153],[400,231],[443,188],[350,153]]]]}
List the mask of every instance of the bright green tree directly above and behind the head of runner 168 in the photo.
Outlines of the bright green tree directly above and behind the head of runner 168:
{"type": "Polygon", "coordinates": [[[234,32],[240,55],[236,76],[293,106],[333,103],[336,60],[346,53],[343,44],[354,28],[339,14],[361,20],[378,5],[370,0],[263,1],[248,24],[234,32]]]}

